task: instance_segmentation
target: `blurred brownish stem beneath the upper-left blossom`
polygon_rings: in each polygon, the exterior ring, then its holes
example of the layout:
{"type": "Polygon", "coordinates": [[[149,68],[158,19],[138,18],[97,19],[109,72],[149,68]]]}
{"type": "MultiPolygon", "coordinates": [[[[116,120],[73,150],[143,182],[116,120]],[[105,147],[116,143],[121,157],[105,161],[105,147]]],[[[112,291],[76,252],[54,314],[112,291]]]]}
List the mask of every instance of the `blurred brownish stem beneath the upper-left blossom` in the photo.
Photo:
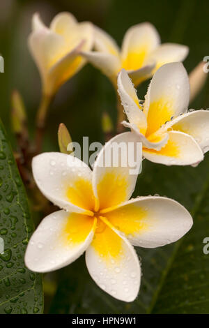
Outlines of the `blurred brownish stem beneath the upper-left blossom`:
{"type": "Polygon", "coordinates": [[[49,105],[52,103],[52,96],[42,94],[40,106],[36,116],[36,135],[35,135],[35,153],[39,154],[42,149],[42,139],[45,133],[45,121],[49,105]]]}

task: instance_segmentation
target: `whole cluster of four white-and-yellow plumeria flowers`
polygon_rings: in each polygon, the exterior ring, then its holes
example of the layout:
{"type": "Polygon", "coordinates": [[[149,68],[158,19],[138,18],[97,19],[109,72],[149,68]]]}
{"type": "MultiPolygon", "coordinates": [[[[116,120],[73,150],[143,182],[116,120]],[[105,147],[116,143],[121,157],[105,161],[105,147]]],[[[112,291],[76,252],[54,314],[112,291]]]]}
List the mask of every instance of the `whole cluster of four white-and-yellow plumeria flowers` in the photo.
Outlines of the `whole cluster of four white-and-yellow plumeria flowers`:
{"type": "MultiPolygon", "coordinates": [[[[155,163],[195,166],[203,160],[209,147],[209,112],[187,112],[189,79],[179,61],[188,49],[160,45],[153,25],[143,23],[125,33],[120,51],[107,33],[89,22],[77,23],[69,13],[57,15],[49,28],[34,15],[29,45],[43,94],[54,94],[89,61],[118,84],[128,119],[122,124],[131,131],[102,147],[93,170],[66,151],[71,138],[64,125],[59,130],[61,152],[33,158],[38,188],[61,210],[45,217],[33,233],[26,266],[53,271],[86,251],[86,266],[95,283],[116,299],[133,301],[141,281],[134,246],[170,244],[183,237],[193,221],[185,207],[167,197],[130,198],[139,172],[130,174],[130,166],[123,163],[136,154],[121,151],[117,167],[112,156],[121,142],[141,142],[143,157],[155,163]],[[134,86],[152,75],[145,100],[139,100],[134,86]],[[111,165],[102,165],[104,158],[111,165]]],[[[140,167],[141,158],[137,162],[140,167]]]]}

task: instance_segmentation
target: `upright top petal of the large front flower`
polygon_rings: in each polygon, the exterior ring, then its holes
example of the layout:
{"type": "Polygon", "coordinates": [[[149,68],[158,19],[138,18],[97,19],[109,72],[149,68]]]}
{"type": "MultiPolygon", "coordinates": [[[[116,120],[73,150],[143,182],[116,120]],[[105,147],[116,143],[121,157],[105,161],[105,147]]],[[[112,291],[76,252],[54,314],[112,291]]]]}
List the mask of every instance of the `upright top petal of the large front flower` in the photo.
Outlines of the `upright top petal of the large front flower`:
{"type": "Polygon", "coordinates": [[[135,133],[116,135],[102,147],[93,167],[95,211],[128,200],[141,166],[141,142],[135,133]]]}

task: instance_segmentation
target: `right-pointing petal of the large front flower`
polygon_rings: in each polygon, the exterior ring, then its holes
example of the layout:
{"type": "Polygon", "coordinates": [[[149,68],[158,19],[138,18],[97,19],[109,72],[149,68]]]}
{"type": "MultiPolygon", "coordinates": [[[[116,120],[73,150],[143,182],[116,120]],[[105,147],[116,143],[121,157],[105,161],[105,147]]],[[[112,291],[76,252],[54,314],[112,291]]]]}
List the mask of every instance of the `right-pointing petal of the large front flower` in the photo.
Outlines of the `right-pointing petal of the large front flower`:
{"type": "Polygon", "coordinates": [[[187,209],[167,197],[139,197],[102,214],[132,245],[146,248],[177,241],[192,227],[187,209]]]}

